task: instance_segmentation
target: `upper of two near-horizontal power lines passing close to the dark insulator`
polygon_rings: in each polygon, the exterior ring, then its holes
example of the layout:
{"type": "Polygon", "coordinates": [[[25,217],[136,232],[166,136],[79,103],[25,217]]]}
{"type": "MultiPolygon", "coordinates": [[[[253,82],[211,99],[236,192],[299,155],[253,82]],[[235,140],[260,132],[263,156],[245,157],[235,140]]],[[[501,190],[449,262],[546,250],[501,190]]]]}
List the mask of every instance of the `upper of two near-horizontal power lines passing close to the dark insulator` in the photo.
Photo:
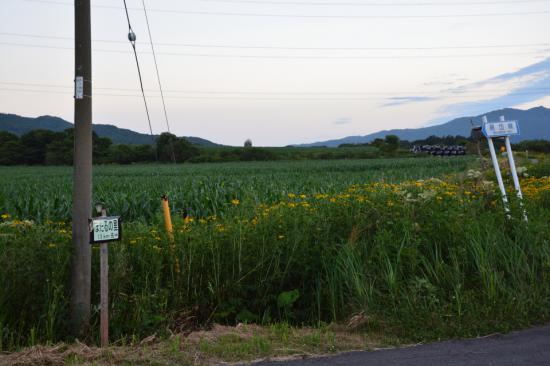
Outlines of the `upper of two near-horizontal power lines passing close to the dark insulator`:
{"type": "MultiPolygon", "coordinates": [[[[46,36],[41,34],[11,33],[0,32],[2,36],[26,37],[37,39],[54,39],[73,41],[71,37],[46,36]]],[[[125,41],[117,40],[93,40],[95,43],[115,43],[126,44],[125,41]]],[[[151,44],[151,43],[146,43],[151,44]]],[[[486,45],[466,45],[466,46],[426,46],[426,47],[289,47],[289,46],[247,46],[247,45],[220,45],[204,43],[160,43],[155,42],[157,46],[179,46],[179,47],[198,47],[198,48],[228,48],[228,49],[265,49],[265,50],[304,50],[304,51],[421,51],[421,50],[453,50],[453,49],[484,49],[484,48],[529,48],[529,47],[548,47],[550,43],[515,43],[515,44],[486,44],[486,45]]]]}

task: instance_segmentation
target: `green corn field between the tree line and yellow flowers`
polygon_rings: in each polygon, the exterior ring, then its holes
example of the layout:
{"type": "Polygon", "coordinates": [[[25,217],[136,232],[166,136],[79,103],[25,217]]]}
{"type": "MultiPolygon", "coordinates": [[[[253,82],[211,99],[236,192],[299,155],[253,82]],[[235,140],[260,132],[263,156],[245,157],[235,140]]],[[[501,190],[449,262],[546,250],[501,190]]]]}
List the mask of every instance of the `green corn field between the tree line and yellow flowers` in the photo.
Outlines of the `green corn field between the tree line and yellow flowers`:
{"type": "MultiPolygon", "coordinates": [[[[332,193],[356,183],[400,181],[464,170],[471,159],[387,159],[219,163],[200,165],[97,166],[93,201],[126,221],[151,222],[159,200],[174,214],[223,215],[237,198],[276,202],[287,193],[332,193]]],[[[37,222],[70,220],[70,167],[0,167],[0,212],[37,222]],[[17,199],[14,199],[17,197],[17,199]]]]}

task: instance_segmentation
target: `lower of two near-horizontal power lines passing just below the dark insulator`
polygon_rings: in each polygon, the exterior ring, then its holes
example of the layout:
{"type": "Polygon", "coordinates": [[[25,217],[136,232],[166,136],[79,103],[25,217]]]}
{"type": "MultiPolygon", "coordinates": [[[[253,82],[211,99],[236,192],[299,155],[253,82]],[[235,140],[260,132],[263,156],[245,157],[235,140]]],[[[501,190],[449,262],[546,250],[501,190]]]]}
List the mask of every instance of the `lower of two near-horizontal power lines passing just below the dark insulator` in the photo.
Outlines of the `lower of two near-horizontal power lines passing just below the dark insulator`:
{"type": "MultiPolygon", "coordinates": [[[[15,42],[0,42],[0,45],[27,47],[27,48],[47,48],[57,50],[74,51],[71,47],[25,44],[15,42]]],[[[94,52],[120,53],[127,54],[123,50],[94,49],[94,52]]],[[[164,56],[185,56],[185,57],[213,57],[213,58],[240,58],[240,59],[274,59],[274,60],[400,60],[400,59],[424,59],[424,58],[476,58],[476,57],[497,57],[497,56],[518,56],[518,55],[539,55],[541,51],[529,52],[500,52],[500,53],[479,53],[479,54],[456,54],[456,55],[384,55],[384,56],[289,56],[289,55],[242,55],[242,54],[212,54],[212,53],[187,53],[187,52],[157,52],[157,55],[164,56]]],[[[142,52],[151,54],[150,52],[142,52]]]]}

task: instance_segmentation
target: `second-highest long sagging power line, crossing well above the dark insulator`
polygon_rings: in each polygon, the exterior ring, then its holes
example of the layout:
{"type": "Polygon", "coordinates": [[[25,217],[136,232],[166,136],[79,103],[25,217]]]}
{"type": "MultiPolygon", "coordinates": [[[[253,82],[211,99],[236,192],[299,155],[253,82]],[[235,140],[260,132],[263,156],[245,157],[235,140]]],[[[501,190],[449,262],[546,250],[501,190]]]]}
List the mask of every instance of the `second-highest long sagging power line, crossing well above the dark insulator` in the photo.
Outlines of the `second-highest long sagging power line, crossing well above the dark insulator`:
{"type": "MultiPolygon", "coordinates": [[[[72,3],[66,3],[55,0],[24,0],[36,3],[73,6],[72,3]]],[[[124,9],[118,6],[95,5],[96,8],[103,9],[124,9]]],[[[128,10],[141,11],[137,8],[127,8],[128,10]]],[[[236,17],[258,17],[258,18],[302,18],[302,19],[442,19],[442,18],[478,18],[478,17],[508,17],[524,15],[545,15],[550,11],[518,11],[518,12],[494,12],[494,13],[470,13],[470,14],[417,14],[417,15],[322,15],[322,14],[270,14],[270,13],[240,13],[240,12],[215,12],[200,10],[178,10],[178,9],[149,9],[150,12],[165,14],[185,14],[185,15],[204,15],[204,16],[236,16],[236,17]]]]}

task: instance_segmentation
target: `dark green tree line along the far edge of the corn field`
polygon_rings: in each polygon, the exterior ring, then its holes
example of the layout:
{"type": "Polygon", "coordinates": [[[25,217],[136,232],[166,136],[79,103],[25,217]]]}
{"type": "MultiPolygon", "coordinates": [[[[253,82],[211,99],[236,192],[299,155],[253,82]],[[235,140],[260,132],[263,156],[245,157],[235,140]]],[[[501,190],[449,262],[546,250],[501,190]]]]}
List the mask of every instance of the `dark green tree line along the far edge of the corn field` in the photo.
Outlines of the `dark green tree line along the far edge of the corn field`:
{"type": "MultiPolygon", "coordinates": [[[[253,147],[250,140],[243,147],[198,147],[170,133],[161,134],[151,145],[114,144],[111,139],[99,137],[95,132],[92,141],[94,164],[372,159],[406,156],[414,145],[461,145],[469,152],[477,153],[475,142],[464,136],[430,136],[411,142],[388,135],[370,143],[342,144],[338,148],[262,148],[253,147]]],[[[33,130],[20,137],[0,131],[0,165],[71,165],[73,144],[73,129],[63,132],[33,130]]],[[[485,145],[481,145],[482,149],[485,145]]],[[[514,149],[550,153],[550,141],[523,141],[515,144],[514,149]]]]}

